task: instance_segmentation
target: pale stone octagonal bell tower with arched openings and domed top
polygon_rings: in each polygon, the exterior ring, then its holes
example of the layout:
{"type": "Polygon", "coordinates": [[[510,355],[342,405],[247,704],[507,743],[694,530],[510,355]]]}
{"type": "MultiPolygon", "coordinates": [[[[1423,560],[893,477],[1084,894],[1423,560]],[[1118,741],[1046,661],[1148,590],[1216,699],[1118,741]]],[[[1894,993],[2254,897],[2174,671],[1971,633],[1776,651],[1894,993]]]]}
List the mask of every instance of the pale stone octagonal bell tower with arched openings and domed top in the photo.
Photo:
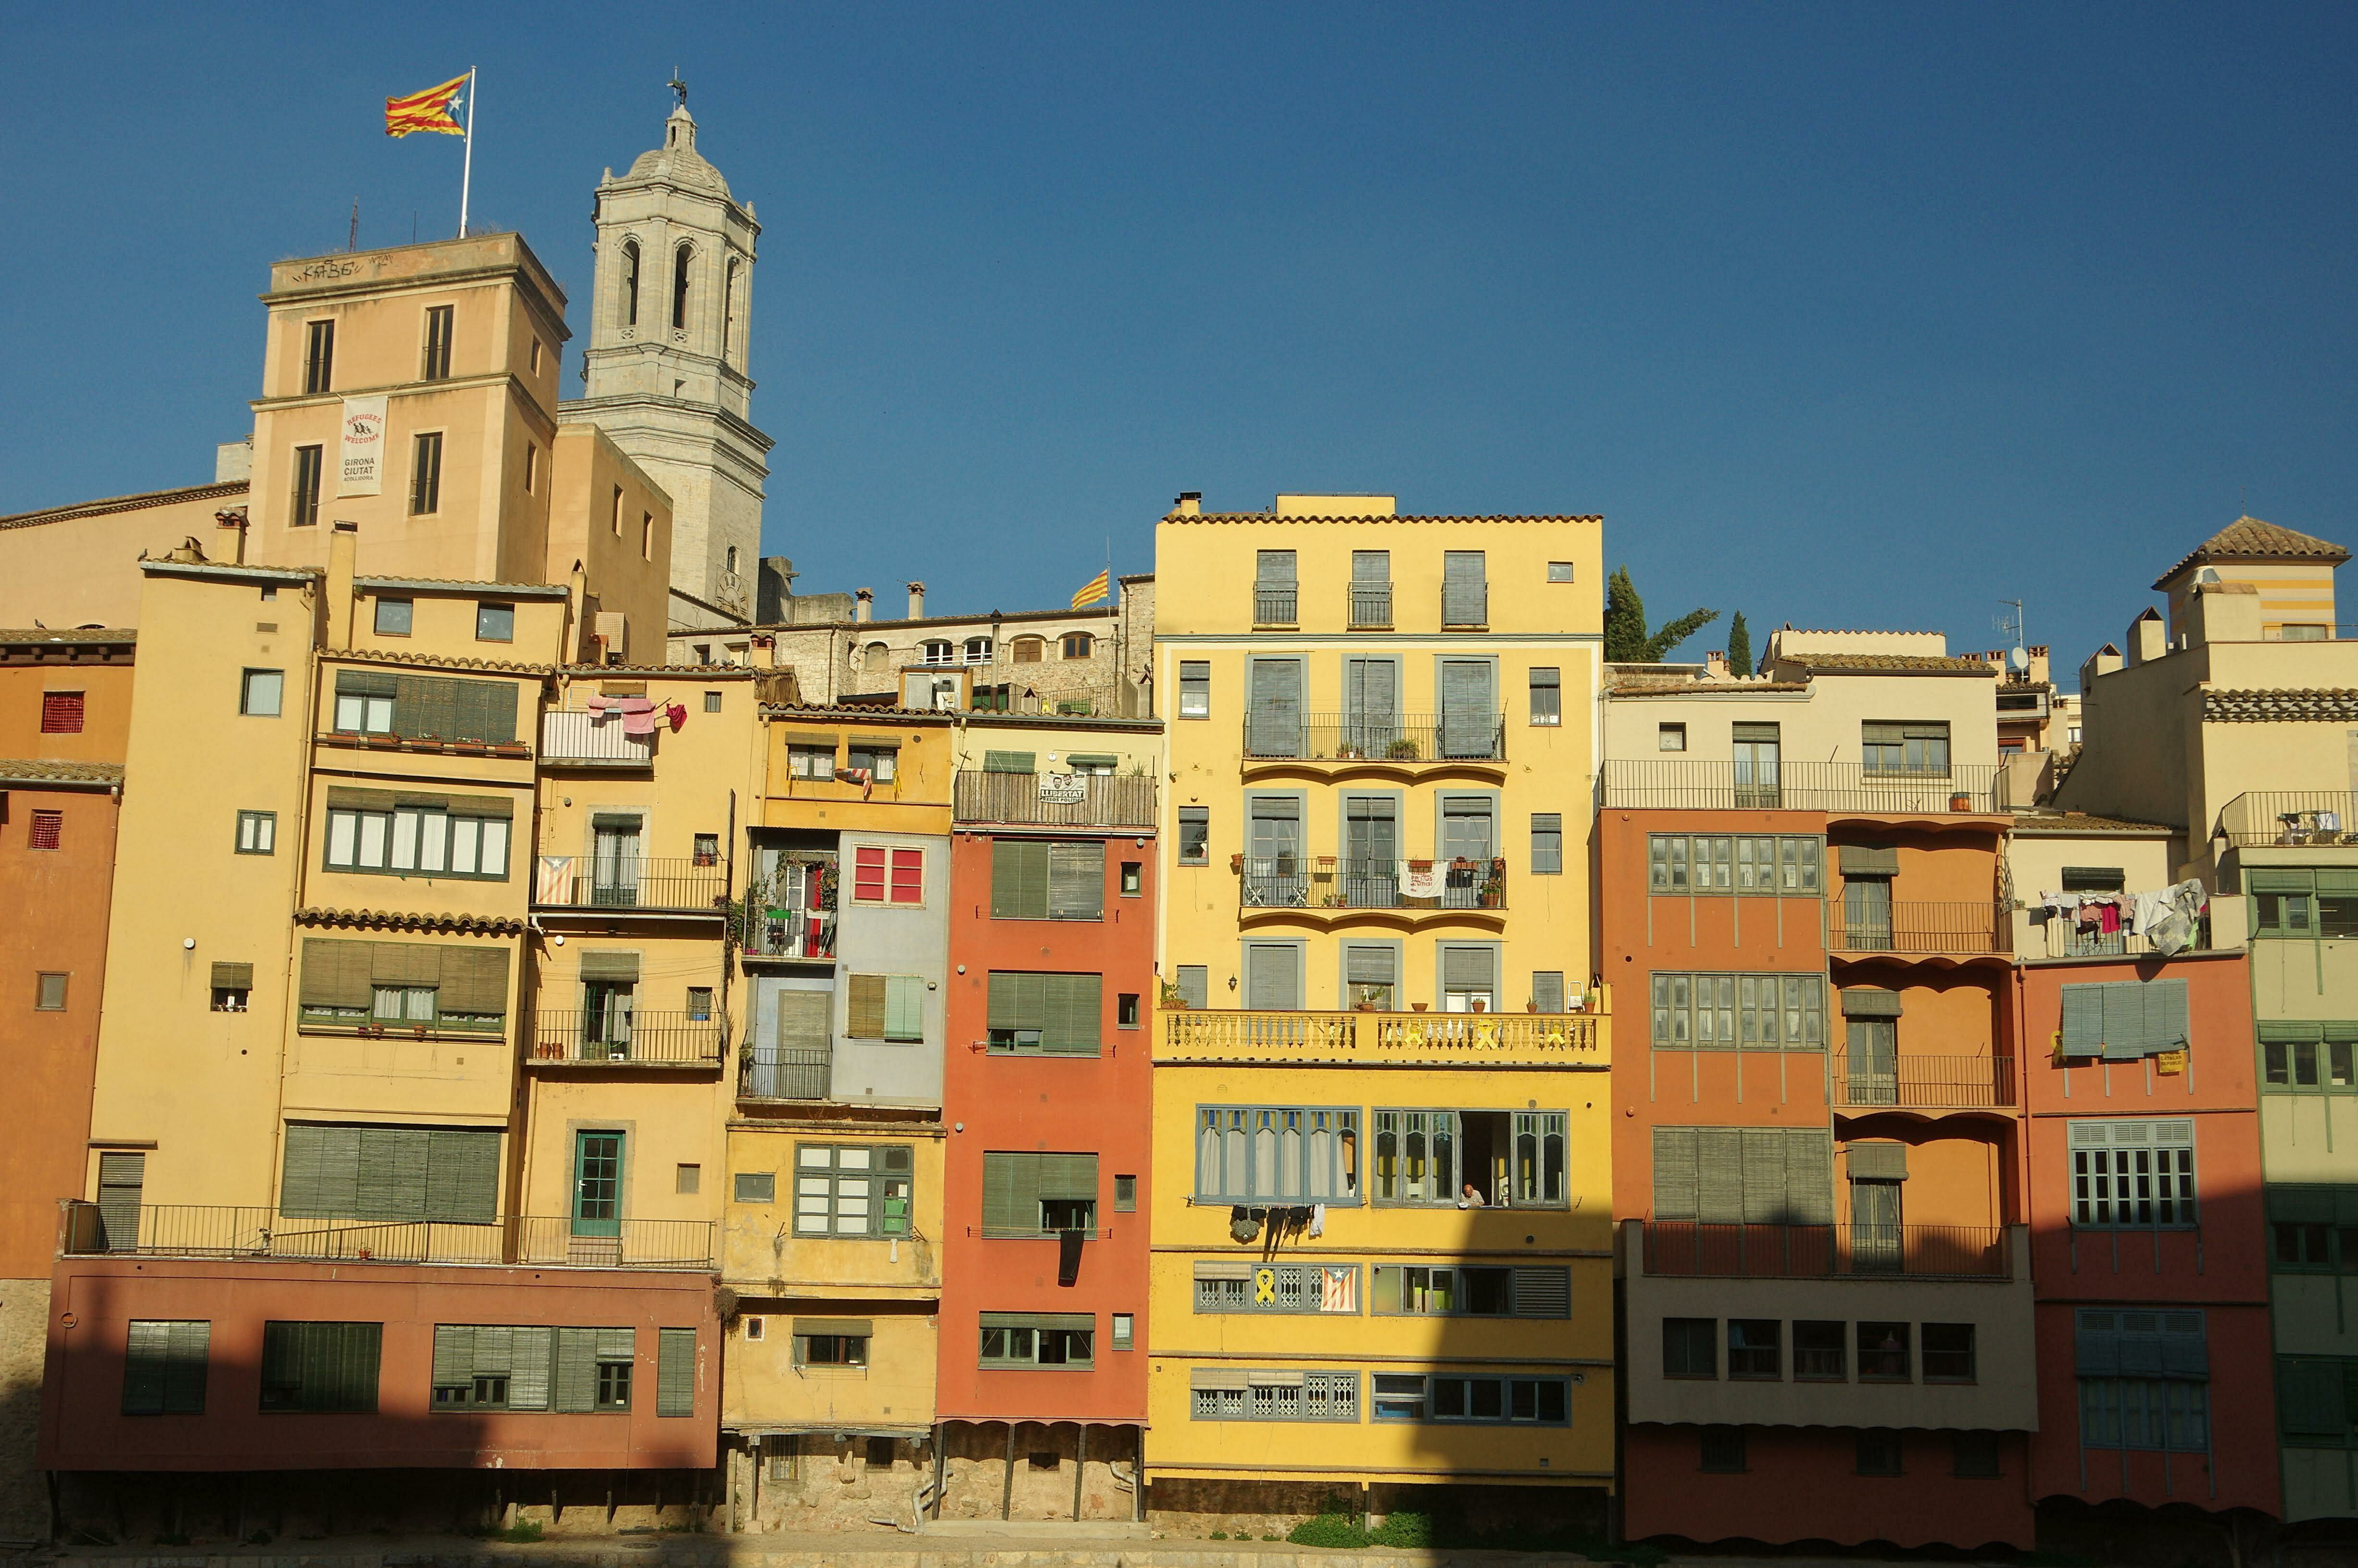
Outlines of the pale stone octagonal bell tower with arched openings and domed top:
{"type": "Polygon", "coordinates": [[[747,420],[745,370],[762,224],[696,151],[689,90],[672,90],[663,146],[599,179],[585,387],[559,417],[601,427],[670,490],[672,622],[703,627],[755,608],[771,439],[747,420]]]}

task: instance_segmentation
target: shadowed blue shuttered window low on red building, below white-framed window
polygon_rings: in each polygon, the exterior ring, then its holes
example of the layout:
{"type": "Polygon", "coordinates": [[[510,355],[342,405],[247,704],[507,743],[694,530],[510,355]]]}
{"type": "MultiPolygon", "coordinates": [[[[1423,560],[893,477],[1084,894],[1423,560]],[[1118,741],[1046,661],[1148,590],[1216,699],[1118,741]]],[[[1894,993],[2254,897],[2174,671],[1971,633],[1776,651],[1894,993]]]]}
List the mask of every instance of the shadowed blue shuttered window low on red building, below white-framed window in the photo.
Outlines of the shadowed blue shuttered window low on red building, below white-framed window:
{"type": "MultiPolygon", "coordinates": [[[[2073,1325],[2082,1448],[2209,1450],[2209,1346],[2200,1311],[2082,1306],[2073,1325]]],[[[2283,1363],[2280,1363],[2283,1365],[2283,1363]]],[[[2280,1419],[2311,1417],[2304,1389],[2280,1419]]]]}

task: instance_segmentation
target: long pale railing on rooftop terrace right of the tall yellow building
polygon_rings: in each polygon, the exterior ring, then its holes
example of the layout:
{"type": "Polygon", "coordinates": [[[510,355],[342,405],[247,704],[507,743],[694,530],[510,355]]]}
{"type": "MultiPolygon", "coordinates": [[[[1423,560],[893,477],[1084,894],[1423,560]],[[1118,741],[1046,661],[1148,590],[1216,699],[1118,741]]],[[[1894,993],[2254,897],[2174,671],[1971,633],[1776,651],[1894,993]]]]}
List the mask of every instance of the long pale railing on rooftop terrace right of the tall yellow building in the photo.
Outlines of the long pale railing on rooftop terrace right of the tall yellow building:
{"type": "Polygon", "coordinates": [[[1884,773],[1858,762],[1606,759],[1603,804],[1632,811],[1856,811],[1868,816],[2007,811],[2000,766],[1884,773]]]}

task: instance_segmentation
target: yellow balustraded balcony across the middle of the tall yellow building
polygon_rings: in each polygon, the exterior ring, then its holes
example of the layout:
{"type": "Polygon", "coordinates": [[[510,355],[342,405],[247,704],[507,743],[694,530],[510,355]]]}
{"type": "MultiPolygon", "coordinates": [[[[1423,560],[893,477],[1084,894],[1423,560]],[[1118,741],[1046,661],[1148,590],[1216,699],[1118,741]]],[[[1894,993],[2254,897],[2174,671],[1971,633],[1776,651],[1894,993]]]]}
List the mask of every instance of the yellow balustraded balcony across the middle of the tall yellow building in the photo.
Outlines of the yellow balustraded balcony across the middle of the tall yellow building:
{"type": "Polygon", "coordinates": [[[1320,1066],[1606,1066],[1596,1012],[1210,1012],[1162,1014],[1155,1061],[1320,1066]]]}

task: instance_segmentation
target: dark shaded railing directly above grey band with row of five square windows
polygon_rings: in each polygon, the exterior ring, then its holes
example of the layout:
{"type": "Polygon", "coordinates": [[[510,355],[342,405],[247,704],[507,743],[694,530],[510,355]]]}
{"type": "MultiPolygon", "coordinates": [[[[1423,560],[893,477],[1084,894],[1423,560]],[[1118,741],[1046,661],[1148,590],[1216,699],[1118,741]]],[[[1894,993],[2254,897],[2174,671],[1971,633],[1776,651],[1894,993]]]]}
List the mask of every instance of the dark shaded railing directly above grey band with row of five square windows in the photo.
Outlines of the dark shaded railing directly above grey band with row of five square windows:
{"type": "Polygon", "coordinates": [[[1707,1278],[2014,1278],[2004,1226],[1646,1221],[1646,1273],[1707,1278]]]}

